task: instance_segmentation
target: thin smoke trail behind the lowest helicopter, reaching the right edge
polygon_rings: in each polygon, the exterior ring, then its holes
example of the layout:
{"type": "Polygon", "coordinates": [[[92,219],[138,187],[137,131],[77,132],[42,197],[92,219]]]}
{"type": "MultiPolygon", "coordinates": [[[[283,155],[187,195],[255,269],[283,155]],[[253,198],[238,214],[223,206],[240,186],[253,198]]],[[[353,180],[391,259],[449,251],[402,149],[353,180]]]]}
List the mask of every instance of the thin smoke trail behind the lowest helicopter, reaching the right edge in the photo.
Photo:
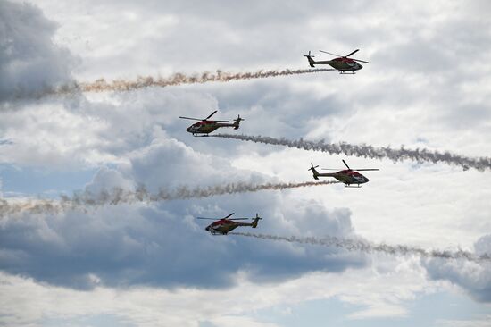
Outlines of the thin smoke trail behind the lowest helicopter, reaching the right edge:
{"type": "Polygon", "coordinates": [[[270,239],[276,241],[285,241],[290,243],[302,243],[319,245],[324,247],[338,247],[344,248],[348,251],[358,251],[364,253],[381,252],[387,255],[393,256],[407,256],[416,255],[429,258],[442,258],[442,259],[465,259],[473,262],[491,261],[491,256],[483,254],[477,256],[468,251],[439,251],[439,250],[425,250],[420,247],[409,247],[405,245],[387,245],[387,244],[372,244],[362,239],[340,239],[335,236],[325,236],[323,238],[314,237],[296,237],[296,236],[276,236],[267,234],[254,234],[243,232],[229,232],[229,235],[245,236],[256,239],[270,239]]]}

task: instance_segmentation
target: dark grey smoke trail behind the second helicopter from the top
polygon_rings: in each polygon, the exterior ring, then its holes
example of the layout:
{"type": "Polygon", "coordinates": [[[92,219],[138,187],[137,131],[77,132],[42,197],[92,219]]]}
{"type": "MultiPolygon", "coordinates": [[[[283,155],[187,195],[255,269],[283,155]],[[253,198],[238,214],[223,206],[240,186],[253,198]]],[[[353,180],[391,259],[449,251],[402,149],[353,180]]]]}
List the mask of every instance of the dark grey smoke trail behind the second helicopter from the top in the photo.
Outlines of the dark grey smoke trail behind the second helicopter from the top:
{"type": "Polygon", "coordinates": [[[477,169],[479,172],[483,172],[486,169],[491,169],[491,158],[489,157],[470,158],[467,156],[450,154],[448,152],[441,153],[426,149],[420,150],[419,148],[416,150],[409,150],[405,149],[404,147],[395,149],[391,147],[372,147],[367,145],[353,145],[349,143],[326,144],[324,143],[324,140],[314,142],[305,141],[303,138],[289,140],[286,138],[269,138],[262,136],[232,134],[215,134],[211,136],[215,138],[233,138],[243,141],[259,142],[284,147],[296,147],[304,150],[321,151],[336,155],[345,154],[373,159],[387,158],[395,162],[410,159],[419,163],[429,162],[434,164],[455,164],[461,166],[464,170],[468,170],[470,167],[472,167],[477,169]]]}

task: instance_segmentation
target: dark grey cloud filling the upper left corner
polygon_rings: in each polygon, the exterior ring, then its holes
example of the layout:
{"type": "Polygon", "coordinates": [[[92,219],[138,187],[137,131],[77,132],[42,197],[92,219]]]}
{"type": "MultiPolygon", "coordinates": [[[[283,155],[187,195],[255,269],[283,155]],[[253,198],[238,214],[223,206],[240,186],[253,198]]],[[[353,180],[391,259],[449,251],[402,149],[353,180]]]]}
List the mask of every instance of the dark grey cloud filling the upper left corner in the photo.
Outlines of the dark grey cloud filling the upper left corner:
{"type": "Polygon", "coordinates": [[[0,1],[0,101],[37,96],[71,81],[77,60],[54,44],[56,24],[33,4],[0,1]]]}

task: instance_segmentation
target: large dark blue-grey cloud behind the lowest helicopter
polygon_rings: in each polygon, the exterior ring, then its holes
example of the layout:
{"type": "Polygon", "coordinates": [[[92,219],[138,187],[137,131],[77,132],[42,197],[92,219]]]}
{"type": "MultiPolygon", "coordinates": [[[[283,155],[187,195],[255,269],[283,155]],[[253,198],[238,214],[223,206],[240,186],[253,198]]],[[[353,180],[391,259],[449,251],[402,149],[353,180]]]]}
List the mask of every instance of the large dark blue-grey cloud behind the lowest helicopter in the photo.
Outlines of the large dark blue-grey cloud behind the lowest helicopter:
{"type": "MultiPolygon", "coordinates": [[[[346,236],[353,232],[348,213],[326,212],[311,203],[317,210],[286,205],[288,210],[275,215],[275,209],[262,198],[222,197],[221,201],[240,214],[254,213],[251,205],[239,202],[255,203],[254,209],[264,217],[258,230],[281,231],[294,225],[296,232],[304,234],[346,236]],[[308,219],[315,223],[305,223],[308,219]]],[[[366,264],[362,255],[336,248],[212,236],[204,231],[206,221],[196,222],[187,214],[193,208],[216,213],[212,207],[206,209],[207,205],[211,204],[121,205],[92,214],[31,215],[4,221],[0,268],[76,289],[90,289],[97,283],[223,288],[232,284],[237,272],[251,273],[254,281],[279,281],[305,272],[339,272],[366,264]]],[[[221,206],[220,202],[215,205],[221,206]]]]}

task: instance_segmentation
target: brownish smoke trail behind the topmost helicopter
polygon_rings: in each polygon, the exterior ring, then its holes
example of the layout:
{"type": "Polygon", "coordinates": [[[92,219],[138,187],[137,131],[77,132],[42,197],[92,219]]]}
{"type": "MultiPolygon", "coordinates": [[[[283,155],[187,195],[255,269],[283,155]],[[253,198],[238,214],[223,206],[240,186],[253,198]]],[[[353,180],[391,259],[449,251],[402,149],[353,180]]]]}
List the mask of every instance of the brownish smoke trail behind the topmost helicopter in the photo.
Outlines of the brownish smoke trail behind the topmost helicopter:
{"type": "Polygon", "coordinates": [[[268,77],[287,76],[308,74],[320,71],[334,71],[329,68],[317,68],[306,70],[282,70],[282,71],[248,71],[248,72],[228,72],[228,71],[216,71],[203,72],[201,74],[186,75],[183,73],[176,73],[168,78],[154,78],[151,76],[138,77],[137,80],[112,80],[106,81],[104,79],[96,80],[94,82],[79,82],[74,85],[65,85],[62,88],[57,88],[48,93],[50,94],[70,94],[72,92],[105,92],[105,91],[130,91],[138,88],[148,87],[171,87],[181,84],[203,84],[207,82],[228,82],[230,80],[252,80],[252,79],[265,79],[268,77]]]}

